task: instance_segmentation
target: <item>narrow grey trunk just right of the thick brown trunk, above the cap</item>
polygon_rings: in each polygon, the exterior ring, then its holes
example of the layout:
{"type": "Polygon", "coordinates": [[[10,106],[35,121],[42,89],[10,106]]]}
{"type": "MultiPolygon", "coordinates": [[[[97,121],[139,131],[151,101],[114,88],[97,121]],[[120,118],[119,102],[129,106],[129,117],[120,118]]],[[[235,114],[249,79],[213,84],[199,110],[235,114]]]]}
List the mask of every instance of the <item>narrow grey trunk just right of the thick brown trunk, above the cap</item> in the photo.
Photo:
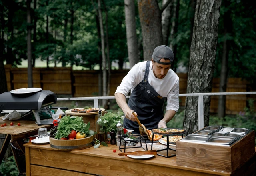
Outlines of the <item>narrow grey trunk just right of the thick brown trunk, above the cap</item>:
{"type": "MultiPolygon", "coordinates": [[[[166,4],[168,0],[163,0],[162,5],[166,4]]],[[[173,1],[172,1],[173,2],[173,1]]],[[[168,4],[165,10],[162,12],[162,35],[163,35],[163,44],[168,46],[168,39],[170,35],[170,23],[171,23],[171,12],[172,12],[172,3],[168,4]]],[[[175,55],[174,55],[175,56],[175,55]]]]}

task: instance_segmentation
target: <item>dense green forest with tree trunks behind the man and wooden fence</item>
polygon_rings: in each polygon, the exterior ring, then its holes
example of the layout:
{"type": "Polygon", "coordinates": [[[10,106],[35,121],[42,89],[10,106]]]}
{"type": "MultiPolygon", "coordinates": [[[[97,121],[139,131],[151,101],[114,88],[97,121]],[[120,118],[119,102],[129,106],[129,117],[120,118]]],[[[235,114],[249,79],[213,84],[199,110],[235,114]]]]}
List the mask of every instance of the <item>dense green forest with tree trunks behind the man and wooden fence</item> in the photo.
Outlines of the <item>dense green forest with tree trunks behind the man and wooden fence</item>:
{"type": "MultiPolygon", "coordinates": [[[[4,63],[17,67],[28,60],[32,87],[32,67],[40,59],[47,67],[53,62],[99,69],[99,96],[108,96],[110,70],[116,69],[111,63],[118,69],[125,62],[132,67],[150,60],[160,44],[173,49],[175,72],[187,68],[188,93],[211,92],[213,77],[220,78],[220,92],[226,92],[228,77],[255,85],[255,11],[255,3],[242,0],[2,0],[0,93],[6,91],[4,63]]],[[[197,98],[186,100],[183,125],[193,131],[197,98]]],[[[220,97],[220,117],[225,116],[224,102],[220,97]]],[[[210,97],[204,104],[207,126],[210,97]]]]}

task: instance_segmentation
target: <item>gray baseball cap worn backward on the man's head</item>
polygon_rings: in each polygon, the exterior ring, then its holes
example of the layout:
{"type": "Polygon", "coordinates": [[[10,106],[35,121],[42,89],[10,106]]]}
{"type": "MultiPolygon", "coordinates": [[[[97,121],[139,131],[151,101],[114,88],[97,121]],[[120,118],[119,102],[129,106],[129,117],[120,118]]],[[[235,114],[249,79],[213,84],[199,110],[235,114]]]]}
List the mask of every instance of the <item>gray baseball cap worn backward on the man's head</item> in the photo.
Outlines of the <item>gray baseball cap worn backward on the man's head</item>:
{"type": "Polygon", "coordinates": [[[159,64],[163,65],[170,65],[172,64],[172,61],[174,59],[174,54],[172,52],[172,49],[166,45],[160,45],[154,49],[152,58],[154,61],[156,61],[159,64]],[[170,60],[170,63],[160,62],[160,59],[167,58],[170,60]]]}

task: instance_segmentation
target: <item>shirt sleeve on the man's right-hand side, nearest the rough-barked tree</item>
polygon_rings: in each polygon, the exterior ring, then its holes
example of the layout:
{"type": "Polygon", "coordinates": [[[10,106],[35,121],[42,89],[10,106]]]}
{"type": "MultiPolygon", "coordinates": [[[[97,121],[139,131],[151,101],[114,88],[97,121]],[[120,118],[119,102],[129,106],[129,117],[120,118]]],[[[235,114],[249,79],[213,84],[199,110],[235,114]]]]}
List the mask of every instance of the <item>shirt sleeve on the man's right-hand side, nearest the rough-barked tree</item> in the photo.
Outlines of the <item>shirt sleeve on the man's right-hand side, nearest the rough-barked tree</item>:
{"type": "Polygon", "coordinates": [[[176,78],[175,84],[173,88],[171,89],[170,93],[167,96],[167,105],[166,110],[174,110],[175,112],[178,112],[179,110],[179,77],[176,78]]]}

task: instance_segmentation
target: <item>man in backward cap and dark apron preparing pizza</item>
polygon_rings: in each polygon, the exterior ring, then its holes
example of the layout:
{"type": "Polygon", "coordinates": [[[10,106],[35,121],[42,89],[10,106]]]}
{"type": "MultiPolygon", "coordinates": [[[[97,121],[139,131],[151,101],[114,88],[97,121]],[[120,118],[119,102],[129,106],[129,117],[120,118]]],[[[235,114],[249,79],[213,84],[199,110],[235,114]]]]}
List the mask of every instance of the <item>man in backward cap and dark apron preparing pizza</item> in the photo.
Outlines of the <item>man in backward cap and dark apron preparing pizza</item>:
{"type": "Polygon", "coordinates": [[[128,72],[117,87],[115,98],[124,112],[124,128],[134,129],[140,134],[134,111],[140,123],[147,129],[166,128],[179,109],[179,77],[170,69],[174,54],[168,46],[154,49],[151,61],[139,62],[128,72]],[[131,90],[126,103],[125,96],[131,90]],[[166,113],[162,110],[164,98],[167,98],[166,113]]]}

